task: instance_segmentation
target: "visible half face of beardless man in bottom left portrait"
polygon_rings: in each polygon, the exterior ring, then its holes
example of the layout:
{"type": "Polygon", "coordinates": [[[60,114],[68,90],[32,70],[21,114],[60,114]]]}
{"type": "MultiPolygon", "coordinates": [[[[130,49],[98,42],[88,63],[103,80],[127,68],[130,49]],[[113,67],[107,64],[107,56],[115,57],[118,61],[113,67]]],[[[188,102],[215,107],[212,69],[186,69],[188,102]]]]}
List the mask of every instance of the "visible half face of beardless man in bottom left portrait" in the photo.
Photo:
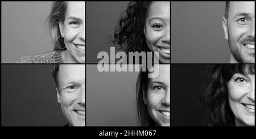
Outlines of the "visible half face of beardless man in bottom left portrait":
{"type": "Polygon", "coordinates": [[[85,65],[60,65],[57,100],[72,126],[85,126],[85,65]]]}

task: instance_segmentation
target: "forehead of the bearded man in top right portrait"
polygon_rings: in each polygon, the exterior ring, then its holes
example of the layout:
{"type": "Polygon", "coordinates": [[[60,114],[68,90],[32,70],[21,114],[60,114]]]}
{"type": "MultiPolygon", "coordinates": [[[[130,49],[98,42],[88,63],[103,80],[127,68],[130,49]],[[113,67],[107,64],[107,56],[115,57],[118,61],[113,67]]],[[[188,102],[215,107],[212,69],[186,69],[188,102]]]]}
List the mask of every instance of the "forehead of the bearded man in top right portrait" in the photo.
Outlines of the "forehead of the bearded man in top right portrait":
{"type": "Polygon", "coordinates": [[[238,12],[247,12],[254,15],[254,2],[230,2],[229,14],[235,15],[238,12]]]}

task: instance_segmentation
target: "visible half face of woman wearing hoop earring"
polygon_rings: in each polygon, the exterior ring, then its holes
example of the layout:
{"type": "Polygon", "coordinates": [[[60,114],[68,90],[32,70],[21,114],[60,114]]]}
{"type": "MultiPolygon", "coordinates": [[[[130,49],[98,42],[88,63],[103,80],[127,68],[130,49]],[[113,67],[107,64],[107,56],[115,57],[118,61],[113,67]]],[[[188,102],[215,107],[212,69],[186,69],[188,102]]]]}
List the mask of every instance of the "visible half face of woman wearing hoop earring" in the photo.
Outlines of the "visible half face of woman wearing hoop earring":
{"type": "Polygon", "coordinates": [[[67,53],[64,60],[85,63],[85,2],[68,2],[64,23],[59,23],[67,53]]]}

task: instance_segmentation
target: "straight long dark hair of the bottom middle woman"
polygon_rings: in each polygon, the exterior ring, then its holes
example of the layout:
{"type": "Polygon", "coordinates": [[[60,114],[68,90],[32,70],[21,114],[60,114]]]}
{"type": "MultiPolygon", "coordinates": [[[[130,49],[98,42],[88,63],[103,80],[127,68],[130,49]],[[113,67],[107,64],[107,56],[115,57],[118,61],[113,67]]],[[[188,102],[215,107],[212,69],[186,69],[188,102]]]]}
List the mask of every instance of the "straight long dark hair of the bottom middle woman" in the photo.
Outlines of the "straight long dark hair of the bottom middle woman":
{"type": "Polygon", "coordinates": [[[148,113],[146,104],[143,101],[143,95],[147,95],[148,87],[148,71],[141,71],[136,83],[136,98],[137,98],[137,116],[139,124],[143,127],[154,127],[155,122],[148,113]],[[144,93],[143,93],[144,92],[144,93]]]}

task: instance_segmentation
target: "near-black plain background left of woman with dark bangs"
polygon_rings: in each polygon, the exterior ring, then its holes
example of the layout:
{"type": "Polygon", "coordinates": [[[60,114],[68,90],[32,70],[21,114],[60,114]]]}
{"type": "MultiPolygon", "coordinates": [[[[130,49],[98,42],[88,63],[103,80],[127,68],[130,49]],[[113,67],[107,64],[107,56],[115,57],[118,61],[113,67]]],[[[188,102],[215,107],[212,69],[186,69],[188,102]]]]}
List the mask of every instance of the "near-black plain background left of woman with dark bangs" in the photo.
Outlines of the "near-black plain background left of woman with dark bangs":
{"type": "Polygon", "coordinates": [[[171,126],[204,126],[206,113],[199,103],[205,94],[213,65],[171,65],[171,126]]]}

